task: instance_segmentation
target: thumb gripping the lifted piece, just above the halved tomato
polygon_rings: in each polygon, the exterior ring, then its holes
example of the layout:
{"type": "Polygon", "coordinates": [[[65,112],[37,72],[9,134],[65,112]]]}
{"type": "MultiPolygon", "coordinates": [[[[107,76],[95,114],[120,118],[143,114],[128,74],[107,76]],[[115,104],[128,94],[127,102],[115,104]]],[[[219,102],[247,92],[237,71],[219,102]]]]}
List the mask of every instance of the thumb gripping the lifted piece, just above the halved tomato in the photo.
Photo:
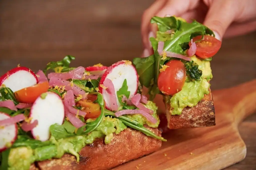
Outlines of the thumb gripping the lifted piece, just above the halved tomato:
{"type": "Polygon", "coordinates": [[[222,39],[228,26],[233,22],[239,11],[238,6],[233,0],[215,0],[212,2],[204,25],[214,31],[217,39],[222,39]]]}

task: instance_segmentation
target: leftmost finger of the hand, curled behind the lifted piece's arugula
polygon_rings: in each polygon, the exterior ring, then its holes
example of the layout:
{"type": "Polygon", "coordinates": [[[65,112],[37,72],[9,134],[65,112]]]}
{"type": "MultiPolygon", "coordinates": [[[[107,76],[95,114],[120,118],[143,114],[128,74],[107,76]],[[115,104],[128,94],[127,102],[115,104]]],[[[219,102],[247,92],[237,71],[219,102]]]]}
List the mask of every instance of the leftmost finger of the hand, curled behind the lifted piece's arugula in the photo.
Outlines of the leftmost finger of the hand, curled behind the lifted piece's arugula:
{"type": "MultiPolygon", "coordinates": [[[[141,35],[142,41],[145,49],[150,49],[149,44],[149,32],[150,32],[150,20],[155,14],[165,5],[166,0],[157,0],[155,1],[142,15],[141,21],[141,35]]],[[[151,35],[152,36],[152,35],[151,35]]]]}

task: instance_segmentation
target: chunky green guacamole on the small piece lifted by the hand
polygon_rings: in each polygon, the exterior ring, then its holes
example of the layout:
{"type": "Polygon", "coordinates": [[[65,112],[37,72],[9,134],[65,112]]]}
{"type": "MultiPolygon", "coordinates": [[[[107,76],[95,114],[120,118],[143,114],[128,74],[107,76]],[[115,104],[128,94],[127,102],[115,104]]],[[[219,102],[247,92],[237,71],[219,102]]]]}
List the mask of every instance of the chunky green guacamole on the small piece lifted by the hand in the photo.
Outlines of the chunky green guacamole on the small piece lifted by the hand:
{"type": "Polygon", "coordinates": [[[209,61],[203,61],[196,56],[192,60],[198,64],[198,68],[202,70],[201,79],[192,81],[187,79],[182,90],[174,94],[171,98],[166,96],[166,102],[169,102],[172,115],[180,115],[185,107],[193,107],[204,97],[209,94],[210,83],[212,79],[211,67],[209,61]]]}

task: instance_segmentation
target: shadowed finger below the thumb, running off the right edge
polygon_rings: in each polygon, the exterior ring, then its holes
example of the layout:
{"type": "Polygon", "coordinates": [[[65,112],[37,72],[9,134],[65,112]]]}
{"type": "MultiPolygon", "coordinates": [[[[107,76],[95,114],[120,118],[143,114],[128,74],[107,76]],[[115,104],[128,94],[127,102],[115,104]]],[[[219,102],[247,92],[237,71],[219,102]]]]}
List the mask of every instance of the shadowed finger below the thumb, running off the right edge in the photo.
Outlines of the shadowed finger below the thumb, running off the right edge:
{"type": "Polygon", "coordinates": [[[224,34],[225,38],[244,35],[256,30],[256,21],[250,21],[243,24],[231,24],[224,34]]]}

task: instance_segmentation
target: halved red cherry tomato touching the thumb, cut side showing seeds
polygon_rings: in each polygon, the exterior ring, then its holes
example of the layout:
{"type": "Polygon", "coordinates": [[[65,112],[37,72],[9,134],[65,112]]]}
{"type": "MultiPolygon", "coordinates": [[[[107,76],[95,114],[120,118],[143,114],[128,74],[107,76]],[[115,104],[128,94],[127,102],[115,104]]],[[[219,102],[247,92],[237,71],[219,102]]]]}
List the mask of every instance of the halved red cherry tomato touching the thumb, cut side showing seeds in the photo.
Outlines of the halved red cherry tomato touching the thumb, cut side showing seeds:
{"type": "MultiPolygon", "coordinates": [[[[193,38],[193,42],[199,41],[201,35],[193,38]]],[[[190,46],[189,42],[189,46],[190,46]]],[[[204,40],[196,42],[196,55],[200,58],[206,59],[214,56],[220,49],[221,41],[210,35],[205,35],[204,40]]]]}

